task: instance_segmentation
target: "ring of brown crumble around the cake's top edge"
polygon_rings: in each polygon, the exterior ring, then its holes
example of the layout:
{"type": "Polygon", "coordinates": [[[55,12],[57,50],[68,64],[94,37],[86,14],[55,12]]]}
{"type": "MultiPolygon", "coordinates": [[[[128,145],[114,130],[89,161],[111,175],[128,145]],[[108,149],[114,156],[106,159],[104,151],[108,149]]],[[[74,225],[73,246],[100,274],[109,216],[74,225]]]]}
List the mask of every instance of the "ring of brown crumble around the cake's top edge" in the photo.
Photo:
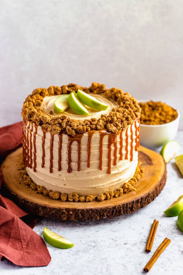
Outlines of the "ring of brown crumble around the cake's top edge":
{"type": "Polygon", "coordinates": [[[70,83],[63,86],[50,86],[46,88],[38,88],[28,95],[23,103],[22,117],[24,120],[34,122],[37,126],[45,128],[52,134],[59,134],[62,130],[66,130],[66,134],[75,136],[90,130],[106,129],[109,132],[117,133],[120,129],[125,130],[128,125],[140,117],[141,108],[137,100],[131,97],[129,93],[124,93],[118,88],[106,89],[105,84],[93,82],[90,87],[82,87],[77,84],[70,83]],[[119,105],[113,108],[108,115],[102,114],[99,119],[70,119],[66,115],[49,116],[41,108],[44,97],[70,94],[83,90],[86,93],[104,94],[107,98],[111,98],[119,105]]]}

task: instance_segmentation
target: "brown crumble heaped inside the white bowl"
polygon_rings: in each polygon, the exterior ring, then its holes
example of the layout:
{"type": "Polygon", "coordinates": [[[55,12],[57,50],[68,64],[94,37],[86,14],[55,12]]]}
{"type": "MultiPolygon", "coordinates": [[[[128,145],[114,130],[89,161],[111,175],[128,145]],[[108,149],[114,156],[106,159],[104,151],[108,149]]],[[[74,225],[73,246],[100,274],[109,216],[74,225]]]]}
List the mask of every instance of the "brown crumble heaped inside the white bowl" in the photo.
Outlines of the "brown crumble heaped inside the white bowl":
{"type": "Polygon", "coordinates": [[[161,101],[148,101],[139,103],[142,111],[140,122],[142,124],[159,125],[169,123],[177,118],[177,110],[161,101]]]}

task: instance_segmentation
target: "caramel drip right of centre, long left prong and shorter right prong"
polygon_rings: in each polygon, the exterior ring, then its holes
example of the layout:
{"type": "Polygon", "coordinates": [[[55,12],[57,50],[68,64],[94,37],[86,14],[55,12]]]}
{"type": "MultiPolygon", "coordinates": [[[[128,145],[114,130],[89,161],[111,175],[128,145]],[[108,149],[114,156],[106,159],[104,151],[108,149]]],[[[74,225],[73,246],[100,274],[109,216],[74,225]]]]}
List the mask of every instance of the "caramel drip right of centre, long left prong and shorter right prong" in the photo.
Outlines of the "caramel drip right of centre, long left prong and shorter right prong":
{"type": "Polygon", "coordinates": [[[117,165],[117,134],[110,133],[108,136],[108,174],[111,174],[111,151],[114,143],[114,165],[117,165]]]}

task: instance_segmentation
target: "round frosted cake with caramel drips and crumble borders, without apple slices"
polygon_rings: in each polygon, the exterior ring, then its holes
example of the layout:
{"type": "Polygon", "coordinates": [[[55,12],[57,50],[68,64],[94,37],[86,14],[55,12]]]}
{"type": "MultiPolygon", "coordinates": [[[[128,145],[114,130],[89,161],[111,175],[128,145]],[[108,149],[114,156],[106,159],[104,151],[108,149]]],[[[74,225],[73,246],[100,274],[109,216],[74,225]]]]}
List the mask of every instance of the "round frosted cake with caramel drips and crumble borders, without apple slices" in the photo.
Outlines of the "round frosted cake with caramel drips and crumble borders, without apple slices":
{"type": "Polygon", "coordinates": [[[140,107],[130,94],[93,82],[35,89],[22,109],[21,182],[53,199],[105,200],[135,190],[142,176],[138,164],[140,107]],[[108,107],[72,109],[58,114],[54,101],[80,89],[108,107]]]}

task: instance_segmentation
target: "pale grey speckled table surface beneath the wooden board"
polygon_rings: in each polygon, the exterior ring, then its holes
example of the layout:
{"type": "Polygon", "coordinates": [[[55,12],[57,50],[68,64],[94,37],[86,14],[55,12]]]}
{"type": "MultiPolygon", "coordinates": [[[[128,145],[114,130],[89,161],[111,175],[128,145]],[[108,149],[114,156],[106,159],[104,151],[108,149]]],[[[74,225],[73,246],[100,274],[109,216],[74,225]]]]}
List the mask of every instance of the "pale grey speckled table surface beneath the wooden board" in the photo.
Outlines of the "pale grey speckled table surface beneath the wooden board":
{"type": "MultiPolygon", "coordinates": [[[[176,139],[183,154],[183,131],[176,139]]],[[[177,226],[177,217],[167,218],[163,211],[183,194],[183,179],[174,164],[167,164],[168,179],[162,193],[148,206],[130,215],[117,218],[84,221],[59,222],[45,218],[37,222],[34,230],[42,237],[48,226],[63,237],[74,242],[68,250],[53,248],[46,244],[52,260],[44,267],[20,267],[8,260],[0,262],[0,274],[142,274],[143,267],[164,240],[171,239],[150,270],[151,274],[182,274],[183,233],[177,226]],[[145,245],[151,224],[159,220],[152,251],[147,254],[145,245]]]]}

